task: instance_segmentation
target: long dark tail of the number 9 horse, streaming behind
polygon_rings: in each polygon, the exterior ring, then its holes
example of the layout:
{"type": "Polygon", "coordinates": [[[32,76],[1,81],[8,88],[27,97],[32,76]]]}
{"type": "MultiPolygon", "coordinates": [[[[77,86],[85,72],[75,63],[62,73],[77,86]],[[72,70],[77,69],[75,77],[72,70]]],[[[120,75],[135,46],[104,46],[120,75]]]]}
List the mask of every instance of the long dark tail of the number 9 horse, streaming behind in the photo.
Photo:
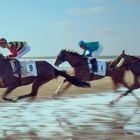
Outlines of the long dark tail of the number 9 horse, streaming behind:
{"type": "Polygon", "coordinates": [[[78,86],[78,87],[90,87],[88,82],[82,81],[75,76],[68,75],[65,71],[60,71],[55,69],[55,74],[57,76],[65,77],[71,84],[78,86]]]}

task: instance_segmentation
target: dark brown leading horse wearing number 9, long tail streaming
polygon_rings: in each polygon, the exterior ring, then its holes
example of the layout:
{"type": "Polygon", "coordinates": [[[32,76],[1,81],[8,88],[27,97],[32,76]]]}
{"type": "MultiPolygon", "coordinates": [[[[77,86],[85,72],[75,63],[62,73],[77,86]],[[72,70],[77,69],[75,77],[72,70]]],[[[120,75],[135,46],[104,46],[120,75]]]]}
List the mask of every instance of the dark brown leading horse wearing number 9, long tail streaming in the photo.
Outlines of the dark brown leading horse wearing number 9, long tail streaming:
{"type": "Polygon", "coordinates": [[[0,88],[7,88],[2,95],[2,98],[6,101],[18,101],[26,97],[35,97],[38,92],[38,88],[43,84],[49,82],[52,79],[56,79],[58,76],[66,78],[71,84],[78,87],[90,87],[90,84],[81,81],[74,76],[68,75],[65,71],[56,69],[53,65],[47,61],[35,61],[37,76],[27,76],[20,79],[13,74],[10,59],[5,59],[0,55],[0,88]],[[17,96],[14,99],[7,98],[6,96],[14,89],[20,86],[28,85],[32,83],[31,92],[25,95],[17,96]]]}

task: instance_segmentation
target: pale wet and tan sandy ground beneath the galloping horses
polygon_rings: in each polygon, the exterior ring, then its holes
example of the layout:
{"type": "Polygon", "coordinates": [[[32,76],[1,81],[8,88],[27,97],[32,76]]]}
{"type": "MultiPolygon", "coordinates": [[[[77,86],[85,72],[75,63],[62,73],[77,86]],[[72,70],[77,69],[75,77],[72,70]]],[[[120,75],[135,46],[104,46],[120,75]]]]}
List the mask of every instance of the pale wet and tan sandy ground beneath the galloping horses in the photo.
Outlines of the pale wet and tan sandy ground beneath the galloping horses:
{"type": "MultiPolygon", "coordinates": [[[[132,77],[126,76],[131,83],[132,77]]],[[[129,95],[113,106],[109,102],[121,93],[112,91],[106,77],[91,82],[91,88],[72,86],[52,99],[62,78],[40,88],[35,100],[9,103],[0,99],[1,140],[139,140],[140,108],[129,95]]],[[[17,88],[9,97],[29,92],[31,85],[17,88]]],[[[0,89],[3,92],[5,89],[0,89]]],[[[121,91],[125,90],[120,88],[121,91]]],[[[137,96],[140,91],[136,90],[137,96]]]]}

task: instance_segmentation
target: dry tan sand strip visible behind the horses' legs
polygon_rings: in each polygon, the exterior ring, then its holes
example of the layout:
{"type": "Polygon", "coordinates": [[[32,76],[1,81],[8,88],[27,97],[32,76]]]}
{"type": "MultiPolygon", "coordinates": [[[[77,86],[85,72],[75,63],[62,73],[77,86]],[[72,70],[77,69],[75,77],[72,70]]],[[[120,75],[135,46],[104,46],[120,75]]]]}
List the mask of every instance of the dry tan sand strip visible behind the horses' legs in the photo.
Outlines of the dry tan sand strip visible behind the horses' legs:
{"type": "MultiPolygon", "coordinates": [[[[44,84],[42,87],[39,88],[38,94],[36,99],[43,99],[47,97],[51,97],[58,86],[63,81],[63,77],[58,77],[57,79],[51,80],[50,82],[44,84]]],[[[133,82],[133,75],[131,72],[127,72],[124,77],[125,81],[128,85],[131,85],[133,82]]],[[[76,94],[85,94],[85,93],[102,93],[105,91],[113,91],[113,83],[110,77],[105,77],[100,80],[91,81],[91,88],[80,88],[72,85],[63,96],[71,96],[76,94]]],[[[119,85],[120,87],[122,85],[119,85]]],[[[1,92],[4,92],[5,89],[0,89],[1,92]]],[[[16,97],[18,95],[22,95],[24,93],[29,93],[31,90],[31,84],[27,86],[18,87],[13,92],[10,93],[9,97],[16,97]]],[[[0,99],[1,100],[1,99],[0,99]]]]}

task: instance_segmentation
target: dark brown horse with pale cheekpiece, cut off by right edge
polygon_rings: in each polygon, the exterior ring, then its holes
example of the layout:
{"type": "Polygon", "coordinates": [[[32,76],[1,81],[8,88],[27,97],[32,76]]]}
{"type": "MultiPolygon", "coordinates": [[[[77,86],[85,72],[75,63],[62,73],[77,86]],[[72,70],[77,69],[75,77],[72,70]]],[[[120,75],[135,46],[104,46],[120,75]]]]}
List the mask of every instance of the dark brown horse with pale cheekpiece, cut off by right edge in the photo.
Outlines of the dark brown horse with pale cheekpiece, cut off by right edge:
{"type": "MultiPolygon", "coordinates": [[[[122,68],[125,70],[130,70],[134,76],[134,82],[132,83],[132,85],[129,86],[128,90],[124,94],[119,96],[116,100],[111,102],[111,104],[114,104],[115,102],[119,101],[123,96],[126,96],[129,93],[133,94],[133,90],[140,88],[140,58],[127,55],[125,54],[125,50],[123,50],[122,53],[111,62],[110,68],[112,69],[112,71],[116,71],[116,69],[119,70],[122,68]]],[[[136,99],[139,100],[138,97],[136,97],[136,99]]]]}

